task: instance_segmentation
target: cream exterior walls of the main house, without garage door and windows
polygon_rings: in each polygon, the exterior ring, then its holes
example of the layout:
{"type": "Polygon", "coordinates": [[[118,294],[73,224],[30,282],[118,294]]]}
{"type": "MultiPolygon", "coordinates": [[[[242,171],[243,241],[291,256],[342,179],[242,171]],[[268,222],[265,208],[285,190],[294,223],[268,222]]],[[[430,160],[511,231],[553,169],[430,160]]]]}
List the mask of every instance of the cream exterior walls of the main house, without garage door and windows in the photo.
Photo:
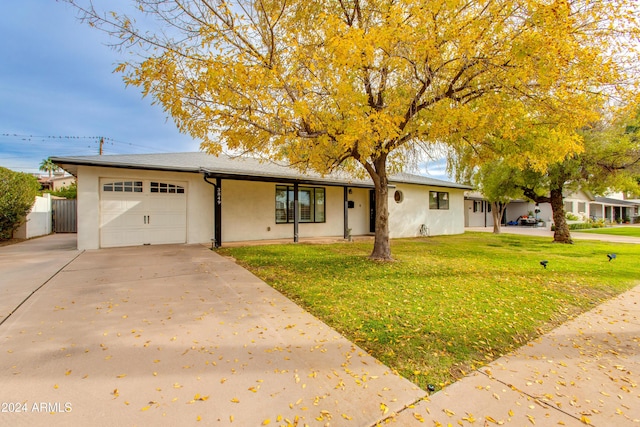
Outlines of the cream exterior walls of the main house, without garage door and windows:
{"type": "MultiPolygon", "coordinates": [[[[186,242],[210,243],[214,237],[214,188],[195,173],[137,169],[78,167],[78,249],[100,247],[100,180],[167,180],[186,182],[186,242]]],[[[276,224],[276,183],[222,180],[222,244],[245,240],[293,239],[293,223],[276,224]]],[[[284,185],[284,183],[283,183],[284,185]]],[[[287,184],[290,185],[290,184],[287,184]]],[[[325,189],[324,223],[299,223],[299,237],[334,237],[344,233],[344,189],[325,189]]],[[[352,235],[369,234],[369,189],[351,188],[348,227],[352,235]]],[[[414,237],[425,224],[430,235],[464,232],[464,191],[413,184],[398,184],[389,192],[390,237],[414,237]],[[395,190],[402,191],[396,203],[395,190]],[[449,193],[449,209],[430,210],[429,191],[449,193]]]]}

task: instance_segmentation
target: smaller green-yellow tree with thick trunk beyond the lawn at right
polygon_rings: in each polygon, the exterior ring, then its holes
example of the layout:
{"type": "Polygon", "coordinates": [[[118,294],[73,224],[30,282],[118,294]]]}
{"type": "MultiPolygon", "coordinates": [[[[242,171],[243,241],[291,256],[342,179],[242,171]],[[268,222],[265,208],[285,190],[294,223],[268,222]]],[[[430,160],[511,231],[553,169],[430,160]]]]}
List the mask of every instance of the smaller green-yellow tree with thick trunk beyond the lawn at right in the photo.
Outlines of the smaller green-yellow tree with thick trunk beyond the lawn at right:
{"type": "MultiPolygon", "coordinates": [[[[461,172],[473,176],[477,187],[483,193],[486,192],[489,201],[499,197],[501,192],[513,198],[517,197],[519,192],[535,203],[549,203],[553,213],[554,241],[572,243],[564,210],[565,192],[578,189],[588,190],[597,195],[604,195],[609,191],[638,192],[638,123],[638,112],[610,122],[603,119],[579,132],[583,146],[581,152],[567,155],[544,169],[519,170],[508,166],[509,162],[504,159],[470,170],[468,162],[456,167],[461,172]]],[[[517,147],[535,144],[536,138],[537,136],[519,141],[517,147]]],[[[500,149],[505,156],[517,156],[511,149],[500,149]]]]}

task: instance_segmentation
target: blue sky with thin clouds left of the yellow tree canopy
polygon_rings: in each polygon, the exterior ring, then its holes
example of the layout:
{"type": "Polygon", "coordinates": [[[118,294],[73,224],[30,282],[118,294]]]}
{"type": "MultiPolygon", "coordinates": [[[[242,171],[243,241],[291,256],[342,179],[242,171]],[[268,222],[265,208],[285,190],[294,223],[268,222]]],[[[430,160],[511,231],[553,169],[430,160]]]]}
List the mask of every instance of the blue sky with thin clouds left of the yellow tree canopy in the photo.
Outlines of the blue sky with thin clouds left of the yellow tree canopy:
{"type": "MultiPolygon", "coordinates": [[[[121,54],[67,4],[3,2],[0,40],[0,166],[38,172],[49,156],[98,154],[99,137],[104,154],[199,149],[139,88],[125,87],[113,73],[121,54]]],[[[442,166],[430,164],[428,175],[446,179],[442,166]]]]}

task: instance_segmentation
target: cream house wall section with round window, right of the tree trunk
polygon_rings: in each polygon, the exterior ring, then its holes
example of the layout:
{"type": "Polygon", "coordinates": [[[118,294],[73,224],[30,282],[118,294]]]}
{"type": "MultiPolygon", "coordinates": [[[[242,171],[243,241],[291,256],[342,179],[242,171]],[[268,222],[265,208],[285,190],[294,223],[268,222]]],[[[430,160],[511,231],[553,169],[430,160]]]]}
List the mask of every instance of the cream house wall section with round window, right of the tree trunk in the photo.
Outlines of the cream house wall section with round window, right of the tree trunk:
{"type": "Polygon", "coordinates": [[[464,190],[414,184],[397,184],[389,189],[390,237],[419,236],[422,224],[428,227],[430,236],[464,233],[464,190]],[[403,194],[401,203],[394,200],[396,190],[403,194]],[[448,192],[449,209],[429,209],[430,191],[448,192]]]}

